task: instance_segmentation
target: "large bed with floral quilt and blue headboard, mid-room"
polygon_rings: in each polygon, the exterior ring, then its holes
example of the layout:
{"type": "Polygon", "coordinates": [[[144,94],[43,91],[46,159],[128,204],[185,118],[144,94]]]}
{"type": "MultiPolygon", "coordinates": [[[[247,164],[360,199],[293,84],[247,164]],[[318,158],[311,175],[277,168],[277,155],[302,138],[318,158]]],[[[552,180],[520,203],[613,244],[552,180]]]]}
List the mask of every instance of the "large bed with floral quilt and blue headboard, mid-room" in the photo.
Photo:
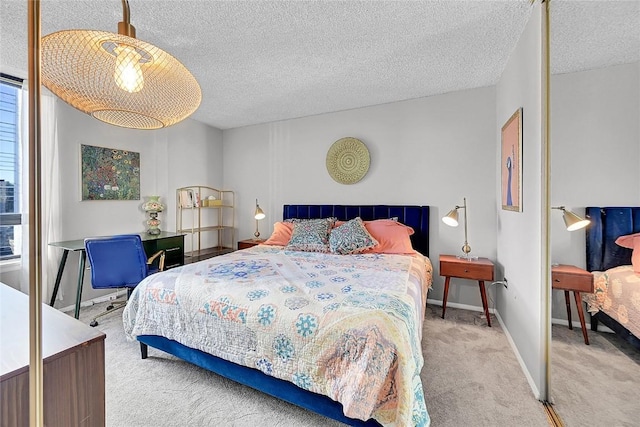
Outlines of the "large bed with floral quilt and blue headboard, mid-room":
{"type": "Polygon", "coordinates": [[[283,209],[296,233],[322,218],[337,220],[332,230],[405,224],[415,253],[258,245],[188,264],[134,289],[125,333],[143,358],[151,346],[349,425],[428,426],[420,371],[429,207],[283,209]]]}

